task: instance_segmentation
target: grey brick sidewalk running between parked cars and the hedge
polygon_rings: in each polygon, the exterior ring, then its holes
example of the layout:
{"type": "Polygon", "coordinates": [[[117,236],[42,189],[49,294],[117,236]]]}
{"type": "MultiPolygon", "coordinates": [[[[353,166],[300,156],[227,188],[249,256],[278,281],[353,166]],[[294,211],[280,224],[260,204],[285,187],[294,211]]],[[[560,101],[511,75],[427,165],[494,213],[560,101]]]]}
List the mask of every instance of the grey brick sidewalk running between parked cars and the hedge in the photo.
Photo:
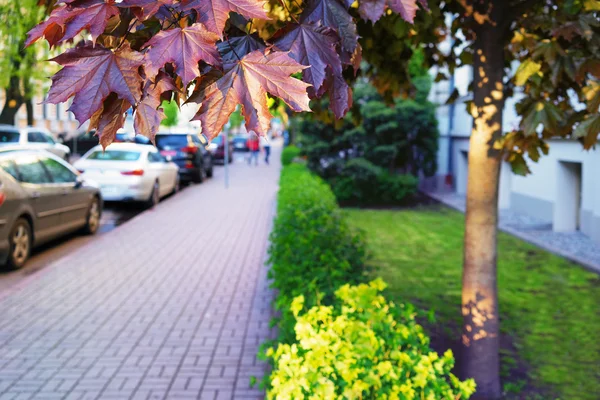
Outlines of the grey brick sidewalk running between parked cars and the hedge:
{"type": "Polygon", "coordinates": [[[0,399],[262,398],[278,159],[228,190],[215,168],[1,299],[0,399]]]}

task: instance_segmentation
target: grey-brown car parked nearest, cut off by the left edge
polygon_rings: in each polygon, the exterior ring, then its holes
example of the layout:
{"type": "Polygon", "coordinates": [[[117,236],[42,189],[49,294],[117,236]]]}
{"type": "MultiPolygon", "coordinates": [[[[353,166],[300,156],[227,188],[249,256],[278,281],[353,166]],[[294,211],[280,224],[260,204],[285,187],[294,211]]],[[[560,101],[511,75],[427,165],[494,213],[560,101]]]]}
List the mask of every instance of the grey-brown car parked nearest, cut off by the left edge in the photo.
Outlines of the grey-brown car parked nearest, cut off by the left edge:
{"type": "Polygon", "coordinates": [[[0,265],[21,268],[31,250],[83,229],[96,233],[102,196],[46,151],[0,149],[0,265]]]}

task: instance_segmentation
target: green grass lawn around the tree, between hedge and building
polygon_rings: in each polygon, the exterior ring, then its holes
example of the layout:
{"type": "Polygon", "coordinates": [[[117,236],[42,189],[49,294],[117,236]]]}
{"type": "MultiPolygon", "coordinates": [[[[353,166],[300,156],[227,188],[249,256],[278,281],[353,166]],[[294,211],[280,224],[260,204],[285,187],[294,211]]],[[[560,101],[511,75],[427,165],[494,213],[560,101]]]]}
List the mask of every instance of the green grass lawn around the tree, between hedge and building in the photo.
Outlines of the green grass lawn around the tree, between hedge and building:
{"type": "MultiPolygon", "coordinates": [[[[435,311],[435,341],[460,332],[464,217],[442,207],[346,210],[367,232],[388,295],[435,311]]],[[[506,234],[499,237],[502,375],[511,398],[600,398],[600,277],[506,234]],[[535,395],[535,393],[542,393],[535,395]]]]}

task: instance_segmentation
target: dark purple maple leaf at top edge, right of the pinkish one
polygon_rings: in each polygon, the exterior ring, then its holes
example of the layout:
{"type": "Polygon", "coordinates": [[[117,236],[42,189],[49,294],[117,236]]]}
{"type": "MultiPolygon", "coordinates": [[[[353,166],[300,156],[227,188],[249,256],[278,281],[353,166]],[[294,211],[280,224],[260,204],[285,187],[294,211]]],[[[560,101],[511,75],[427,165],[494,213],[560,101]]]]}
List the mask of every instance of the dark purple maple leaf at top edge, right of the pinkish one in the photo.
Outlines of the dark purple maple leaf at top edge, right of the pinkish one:
{"type": "Polygon", "coordinates": [[[301,22],[321,22],[338,32],[342,49],[354,52],[358,45],[358,34],[348,7],[338,0],[308,0],[301,22]]]}

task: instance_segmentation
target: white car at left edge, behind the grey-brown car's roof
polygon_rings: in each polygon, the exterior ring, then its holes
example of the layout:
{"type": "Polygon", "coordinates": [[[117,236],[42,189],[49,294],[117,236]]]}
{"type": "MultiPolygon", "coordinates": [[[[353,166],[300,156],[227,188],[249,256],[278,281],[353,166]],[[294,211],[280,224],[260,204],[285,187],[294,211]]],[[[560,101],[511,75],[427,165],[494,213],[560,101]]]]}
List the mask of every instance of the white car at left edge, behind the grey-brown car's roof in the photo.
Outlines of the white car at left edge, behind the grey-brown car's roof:
{"type": "Polygon", "coordinates": [[[46,150],[68,161],[71,150],[57,143],[50,132],[41,128],[17,128],[12,125],[0,125],[0,146],[20,146],[24,149],[46,150]]]}

